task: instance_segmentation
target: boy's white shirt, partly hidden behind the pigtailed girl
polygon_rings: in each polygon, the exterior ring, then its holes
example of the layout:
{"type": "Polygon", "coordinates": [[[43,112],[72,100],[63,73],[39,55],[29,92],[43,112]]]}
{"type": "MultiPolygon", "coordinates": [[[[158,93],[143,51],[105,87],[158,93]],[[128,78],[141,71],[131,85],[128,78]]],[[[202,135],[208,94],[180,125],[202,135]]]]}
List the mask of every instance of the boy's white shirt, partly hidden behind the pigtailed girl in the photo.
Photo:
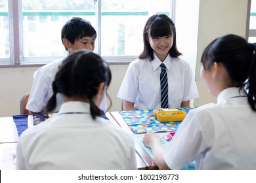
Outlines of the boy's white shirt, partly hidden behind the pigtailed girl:
{"type": "MultiPolygon", "coordinates": [[[[28,99],[26,109],[33,112],[41,112],[41,110],[43,110],[43,108],[47,104],[47,101],[49,101],[49,99],[53,95],[52,84],[62,61],[63,59],[58,59],[44,65],[43,67],[40,67],[39,69],[37,69],[37,71],[35,71],[35,73],[33,74],[33,85],[30,91],[30,97],[28,99]]],[[[58,112],[58,110],[60,109],[60,105],[62,105],[63,103],[63,97],[62,95],[60,95],[60,93],[57,93],[56,99],[57,103],[54,112],[58,112]]],[[[104,110],[104,112],[106,112],[108,108],[106,93],[104,93],[104,98],[99,108],[101,110],[104,110]]]]}

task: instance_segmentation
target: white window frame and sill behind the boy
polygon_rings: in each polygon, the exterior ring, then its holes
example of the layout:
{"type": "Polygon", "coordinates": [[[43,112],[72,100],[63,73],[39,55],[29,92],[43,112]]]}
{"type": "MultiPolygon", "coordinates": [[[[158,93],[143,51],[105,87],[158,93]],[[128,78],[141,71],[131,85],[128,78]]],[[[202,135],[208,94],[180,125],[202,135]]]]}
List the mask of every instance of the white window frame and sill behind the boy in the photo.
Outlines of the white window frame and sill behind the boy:
{"type": "MultiPolygon", "coordinates": [[[[96,47],[95,52],[101,54],[101,0],[94,1],[96,10],[96,47]]],[[[175,14],[175,0],[170,0],[172,6],[172,14],[175,14]]],[[[48,57],[24,57],[23,48],[23,35],[22,35],[22,1],[20,0],[8,0],[8,18],[9,18],[9,44],[10,44],[10,57],[0,58],[0,66],[17,66],[17,65],[44,65],[56,59],[64,58],[63,56],[48,56],[48,57]],[[36,60],[36,63],[35,63],[36,60]]],[[[137,59],[137,56],[102,56],[108,63],[127,63],[137,59]]]]}

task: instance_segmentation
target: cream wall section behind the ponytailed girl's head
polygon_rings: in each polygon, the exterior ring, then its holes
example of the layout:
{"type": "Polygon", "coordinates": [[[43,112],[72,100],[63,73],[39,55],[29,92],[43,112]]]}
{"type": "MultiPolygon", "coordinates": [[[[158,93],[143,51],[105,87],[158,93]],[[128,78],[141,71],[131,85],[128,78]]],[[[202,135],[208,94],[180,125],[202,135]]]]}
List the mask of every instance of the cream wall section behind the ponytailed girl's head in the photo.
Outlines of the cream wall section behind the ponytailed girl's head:
{"type": "Polygon", "coordinates": [[[195,106],[216,101],[209,95],[200,78],[200,58],[203,49],[213,39],[233,33],[245,37],[247,20],[247,0],[207,0],[200,1],[198,21],[198,58],[196,65],[196,83],[200,98],[194,101],[195,106]]]}

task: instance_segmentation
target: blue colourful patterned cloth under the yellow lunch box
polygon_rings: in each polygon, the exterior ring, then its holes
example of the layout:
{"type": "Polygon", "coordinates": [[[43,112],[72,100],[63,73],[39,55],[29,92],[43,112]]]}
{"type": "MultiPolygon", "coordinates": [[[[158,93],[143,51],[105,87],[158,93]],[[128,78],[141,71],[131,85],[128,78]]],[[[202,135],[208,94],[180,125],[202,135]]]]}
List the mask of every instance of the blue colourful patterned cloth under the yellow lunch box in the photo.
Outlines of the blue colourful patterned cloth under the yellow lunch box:
{"type": "MultiPolygon", "coordinates": [[[[177,108],[184,110],[186,114],[195,107],[177,108]]],[[[159,122],[154,116],[153,110],[127,110],[119,111],[123,120],[129,125],[133,133],[146,133],[148,131],[154,132],[168,132],[177,131],[181,122],[159,122]]]]}

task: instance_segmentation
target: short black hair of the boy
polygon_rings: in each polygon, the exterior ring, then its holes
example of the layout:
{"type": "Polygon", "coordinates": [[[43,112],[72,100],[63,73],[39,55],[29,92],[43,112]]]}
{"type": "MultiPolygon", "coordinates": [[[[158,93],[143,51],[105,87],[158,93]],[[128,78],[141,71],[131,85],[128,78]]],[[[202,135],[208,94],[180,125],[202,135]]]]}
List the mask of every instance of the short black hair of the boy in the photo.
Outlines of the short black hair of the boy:
{"type": "MultiPolygon", "coordinates": [[[[75,41],[83,37],[95,37],[96,39],[96,36],[96,30],[91,23],[79,17],[73,17],[68,20],[61,30],[62,43],[63,39],[68,39],[69,42],[74,44],[75,41]]],[[[68,50],[68,48],[65,49],[66,51],[68,50]]]]}

